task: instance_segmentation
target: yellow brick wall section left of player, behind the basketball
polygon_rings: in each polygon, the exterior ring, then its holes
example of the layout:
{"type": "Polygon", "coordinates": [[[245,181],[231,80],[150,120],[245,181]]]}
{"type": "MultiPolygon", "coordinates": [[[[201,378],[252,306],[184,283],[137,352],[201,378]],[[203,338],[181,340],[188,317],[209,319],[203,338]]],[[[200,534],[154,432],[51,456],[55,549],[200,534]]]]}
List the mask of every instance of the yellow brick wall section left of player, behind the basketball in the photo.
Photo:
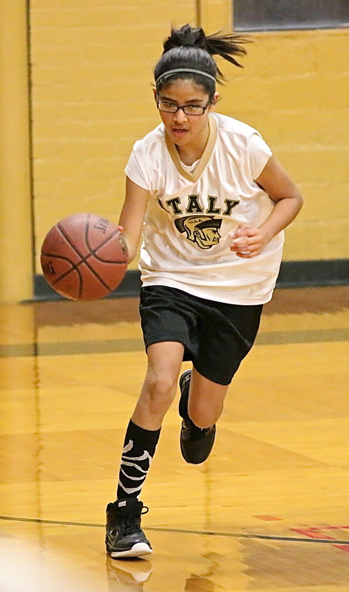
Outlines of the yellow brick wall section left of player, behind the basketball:
{"type": "Polygon", "coordinates": [[[57,220],[78,211],[118,220],[132,145],[158,124],[151,83],[162,40],[171,22],[195,22],[195,3],[31,0],[30,17],[40,273],[57,220]]]}

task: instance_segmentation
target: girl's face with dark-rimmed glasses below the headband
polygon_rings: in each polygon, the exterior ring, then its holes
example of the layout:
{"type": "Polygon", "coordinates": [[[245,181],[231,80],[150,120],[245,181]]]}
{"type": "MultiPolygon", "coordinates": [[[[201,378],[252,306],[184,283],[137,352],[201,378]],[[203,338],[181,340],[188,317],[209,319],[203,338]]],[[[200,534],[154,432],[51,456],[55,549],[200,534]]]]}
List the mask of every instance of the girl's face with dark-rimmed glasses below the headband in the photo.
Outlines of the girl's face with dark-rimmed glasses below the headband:
{"type": "MultiPolygon", "coordinates": [[[[190,80],[178,79],[162,88],[155,98],[174,105],[206,107],[210,97],[202,86],[190,80]]],[[[209,131],[208,114],[216,104],[217,98],[216,93],[203,115],[186,115],[182,109],[175,113],[159,111],[168,134],[178,147],[190,147],[190,144],[194,147],[201,143],[205,146],[209,131]]]]}

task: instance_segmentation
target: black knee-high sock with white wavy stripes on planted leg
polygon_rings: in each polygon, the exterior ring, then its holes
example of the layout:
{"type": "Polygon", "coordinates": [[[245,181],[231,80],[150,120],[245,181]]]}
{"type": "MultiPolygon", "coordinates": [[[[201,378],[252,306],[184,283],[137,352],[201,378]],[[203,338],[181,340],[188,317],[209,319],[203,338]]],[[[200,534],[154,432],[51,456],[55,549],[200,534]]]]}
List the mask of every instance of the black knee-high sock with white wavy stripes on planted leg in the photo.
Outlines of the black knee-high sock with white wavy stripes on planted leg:
{"type": "Polygon", "coordinates": [[[120,463],[118,500],[138,497],[158,443],[160,430],[144,430],[130,420],[120,463]]]}

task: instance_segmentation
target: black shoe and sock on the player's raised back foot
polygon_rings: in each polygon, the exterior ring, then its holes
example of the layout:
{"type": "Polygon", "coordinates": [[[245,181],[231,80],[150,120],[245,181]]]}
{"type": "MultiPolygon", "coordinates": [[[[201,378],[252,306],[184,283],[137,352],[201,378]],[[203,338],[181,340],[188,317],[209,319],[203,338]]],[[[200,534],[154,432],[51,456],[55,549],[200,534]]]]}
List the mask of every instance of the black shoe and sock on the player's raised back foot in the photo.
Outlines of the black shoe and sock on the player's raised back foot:
{"type": "Polygon", "coordinates": [[[200,465],[210,456],[214,437],[216,436],[216,424],[201,429],[201,427],[195,426],[188,416],[190,377],[191,370],[186,370],[180,377],[181,452],[186,462],[190,462],[192,465],[200,465]]]}

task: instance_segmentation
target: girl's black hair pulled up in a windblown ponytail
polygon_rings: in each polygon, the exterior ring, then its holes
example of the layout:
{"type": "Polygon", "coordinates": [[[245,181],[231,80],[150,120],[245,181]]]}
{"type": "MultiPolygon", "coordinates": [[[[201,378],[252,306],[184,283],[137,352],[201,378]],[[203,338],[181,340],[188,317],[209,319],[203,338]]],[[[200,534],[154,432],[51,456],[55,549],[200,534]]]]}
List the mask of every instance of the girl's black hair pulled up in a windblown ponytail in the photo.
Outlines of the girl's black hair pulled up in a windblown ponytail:
{"type": "Polygon", "coordinates": [[[194,28],[189,24],[180,29],[172,27],[171,35],[163,44],[164,52],[154,68],[156,90],[159,91],[168,85],[169,81],[190,78],[199,86],[203,86],[207,94],[212,97],[216,91],[216,84],[211,78],[200,73],[176,72],[164,76],[158,83],[156,81],[159,76],[169,70],[190,68],[213,76],[216,82],[223,82],[225,78],[212,56],[221,56],[234,66],[243,67],[233,57],[244,56],[247,53],[242,46],[243,43],[249,43],[249,39],[234,33],[206,36],[202,28],[194,28]]]}

